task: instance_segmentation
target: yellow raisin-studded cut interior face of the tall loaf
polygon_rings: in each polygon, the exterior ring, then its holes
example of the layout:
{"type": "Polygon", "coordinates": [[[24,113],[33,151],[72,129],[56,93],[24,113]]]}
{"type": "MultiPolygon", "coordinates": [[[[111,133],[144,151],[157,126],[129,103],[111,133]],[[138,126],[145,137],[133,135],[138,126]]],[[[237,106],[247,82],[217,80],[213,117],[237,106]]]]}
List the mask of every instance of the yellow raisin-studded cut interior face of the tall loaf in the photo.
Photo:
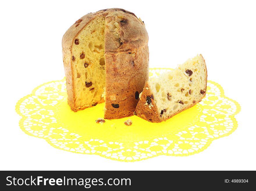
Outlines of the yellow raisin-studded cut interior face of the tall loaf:
{"type": "Polygon", "coordinates": [[[72,61],[78,109],[104,102],[105,88],[105,17],[98,17],[88,24],[74,40],[72,61]]]}

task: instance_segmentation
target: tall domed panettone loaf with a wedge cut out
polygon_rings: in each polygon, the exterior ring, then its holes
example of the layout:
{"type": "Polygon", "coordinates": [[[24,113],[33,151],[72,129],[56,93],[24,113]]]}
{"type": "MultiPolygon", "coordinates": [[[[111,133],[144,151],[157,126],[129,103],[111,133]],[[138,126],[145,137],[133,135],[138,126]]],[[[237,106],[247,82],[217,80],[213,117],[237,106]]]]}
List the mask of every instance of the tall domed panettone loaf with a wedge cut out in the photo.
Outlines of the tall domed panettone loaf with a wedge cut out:
{"type": "Polygon", "coordinates": [[[104,102],[105,119],[131,116],[148,80],[148,35],[134,13],[88,13],[62,40],[68,104],[73,111],[104,102]]]}

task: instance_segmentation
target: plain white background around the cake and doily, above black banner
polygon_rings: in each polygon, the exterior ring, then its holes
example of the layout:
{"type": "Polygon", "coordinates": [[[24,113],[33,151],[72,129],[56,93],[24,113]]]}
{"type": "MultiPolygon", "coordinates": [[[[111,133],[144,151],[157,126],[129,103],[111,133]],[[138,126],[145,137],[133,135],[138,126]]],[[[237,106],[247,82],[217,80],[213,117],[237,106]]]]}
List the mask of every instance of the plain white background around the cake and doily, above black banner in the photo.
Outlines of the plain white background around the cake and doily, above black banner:
{"type": "Polygon", "coordinates": [[[1,170],[256,170],[255,3],[253,1],[1,1],[1,170]],[[241,104],[237,130],[187,157],[125,163],[55,149],[19,128],[16,102],[64,77],[61,39],[80,17],[123,8],[145,22],[150,67],[202,54],[208,79],[241,104]]]}

